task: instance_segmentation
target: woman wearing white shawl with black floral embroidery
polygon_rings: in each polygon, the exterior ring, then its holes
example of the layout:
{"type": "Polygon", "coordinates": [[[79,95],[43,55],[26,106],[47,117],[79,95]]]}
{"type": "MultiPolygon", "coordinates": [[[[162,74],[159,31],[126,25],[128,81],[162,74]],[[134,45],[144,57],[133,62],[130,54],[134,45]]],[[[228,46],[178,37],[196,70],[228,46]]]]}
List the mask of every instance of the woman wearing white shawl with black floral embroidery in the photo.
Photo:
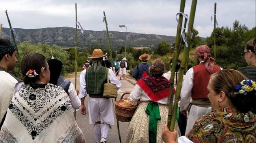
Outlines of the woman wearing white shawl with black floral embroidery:
{"type": "Polygon", "coordinates": [[[45,56],[26,55],[20,69],[24,84],[9,103],[0,143],[85,143],[69,96],[49,83],[45,56]]]}

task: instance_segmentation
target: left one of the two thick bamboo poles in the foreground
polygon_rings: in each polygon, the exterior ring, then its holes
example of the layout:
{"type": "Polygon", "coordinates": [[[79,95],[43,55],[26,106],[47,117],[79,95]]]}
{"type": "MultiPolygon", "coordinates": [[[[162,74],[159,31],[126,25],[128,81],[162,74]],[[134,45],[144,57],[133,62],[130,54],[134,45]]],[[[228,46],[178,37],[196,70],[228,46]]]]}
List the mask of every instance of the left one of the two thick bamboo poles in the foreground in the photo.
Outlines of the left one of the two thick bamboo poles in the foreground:
{"type": "MultiPolygon", "coordinates": [[[[180,12],[183,13],[185,9],[185,3],[186,0],[180,1],[180,12]]],[[[167,119],[167,127],[170,128],[171,125],[171,118],[172,118],[172,110],[173,110],[173,94],[174,94],[174,76],[175,76],[175,69],[176,69],[176,62],[178,57],[178,47],[180,46],[180,33],[181,33],[181,26],[182,26],[182,20],[183,16],[179,16],[178,25],[177,25],[177,33],[176,33],[176,42],[174,47],[174,53],[173,53],[173,67],[172,67],[172,73],[170,77],[170,95],[169,95],[169,110],[168,110],[168,119],[167,119]],[[174,72],[173,72],[174,71],[174,72]]]]}

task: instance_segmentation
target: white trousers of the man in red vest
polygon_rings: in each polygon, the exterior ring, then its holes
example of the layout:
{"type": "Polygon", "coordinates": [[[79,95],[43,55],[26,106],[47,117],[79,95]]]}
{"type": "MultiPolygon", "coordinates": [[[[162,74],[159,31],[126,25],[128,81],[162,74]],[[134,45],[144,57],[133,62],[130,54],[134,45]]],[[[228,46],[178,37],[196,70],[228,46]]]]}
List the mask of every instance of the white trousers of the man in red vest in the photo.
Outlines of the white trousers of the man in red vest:
{"type": "Polygon", "coordinates": [[[199,107],[196,105],[192,105],[189,111],[189,116],[187,120],[187,127],[185,135],[187,135],[190,130],[193,128],[195,121],[202,115],[211,112],[211,107],[199,107]]]}

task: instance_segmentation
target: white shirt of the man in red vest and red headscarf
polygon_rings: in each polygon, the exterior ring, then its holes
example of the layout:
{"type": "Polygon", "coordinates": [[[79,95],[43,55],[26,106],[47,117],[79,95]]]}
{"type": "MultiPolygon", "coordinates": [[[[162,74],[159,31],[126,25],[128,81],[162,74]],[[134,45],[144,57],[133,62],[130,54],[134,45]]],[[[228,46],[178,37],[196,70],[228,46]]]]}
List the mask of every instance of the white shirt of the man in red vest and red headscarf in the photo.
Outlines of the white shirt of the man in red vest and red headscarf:
{"type": "MultiPolygon", "coordinates": [[[[204,61],[200,62],[203,63],[204,61]]],[[[199,64],[200,64],[199,63],[199,64]]],[[[221,68],[222,70],[223,68],[221,68]]],[[[191,91],[193,88],[193,80],[194,80],[194,70],[193,67],[191,67],[186,75],[185,80],[181,88],[180,92],[180,111],[186,110],[190,103],[190,97],[191,97],[191,91]]]]}

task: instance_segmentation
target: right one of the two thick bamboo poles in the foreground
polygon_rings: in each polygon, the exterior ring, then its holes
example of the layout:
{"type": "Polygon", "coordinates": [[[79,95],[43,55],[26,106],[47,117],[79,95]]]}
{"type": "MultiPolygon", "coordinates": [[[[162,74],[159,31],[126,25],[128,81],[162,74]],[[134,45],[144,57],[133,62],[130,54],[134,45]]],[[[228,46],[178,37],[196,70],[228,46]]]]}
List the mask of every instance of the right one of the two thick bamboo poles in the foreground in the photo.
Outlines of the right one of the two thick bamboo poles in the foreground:
{"type": "Polygon", "coordinates": [[[184,48],[183,51],[183,57],[182,57],[182,62],[180,66],[180,73],[178,76],[178,84],[176,87],[176,94],[175,94],[175,99],[174,99],[174,105],[173,105],[173,116],[171,118],[171,127],[170,131],[173,132],[174,130],[174,124],[175,124],[175,119],[176,119],[176,112],[178,108],[178,101],[180,98],[180,91],[182,87],[182,79],[183,79],[183,74],[186,68],[186,61],[187,61],[187,54],[189,54],[189,47],[190,47],[190,42],[191,42],[191,32],[189,29],[193,29],[193,24],[194,24],[194,19],[195,19],[195,11],[197,7],[197,0],[193,0],[191,4],[191,10],[190,10],[190,16],[189,16],[189,28],[187,30],[187,45],[188,47],[184,48]]]}

